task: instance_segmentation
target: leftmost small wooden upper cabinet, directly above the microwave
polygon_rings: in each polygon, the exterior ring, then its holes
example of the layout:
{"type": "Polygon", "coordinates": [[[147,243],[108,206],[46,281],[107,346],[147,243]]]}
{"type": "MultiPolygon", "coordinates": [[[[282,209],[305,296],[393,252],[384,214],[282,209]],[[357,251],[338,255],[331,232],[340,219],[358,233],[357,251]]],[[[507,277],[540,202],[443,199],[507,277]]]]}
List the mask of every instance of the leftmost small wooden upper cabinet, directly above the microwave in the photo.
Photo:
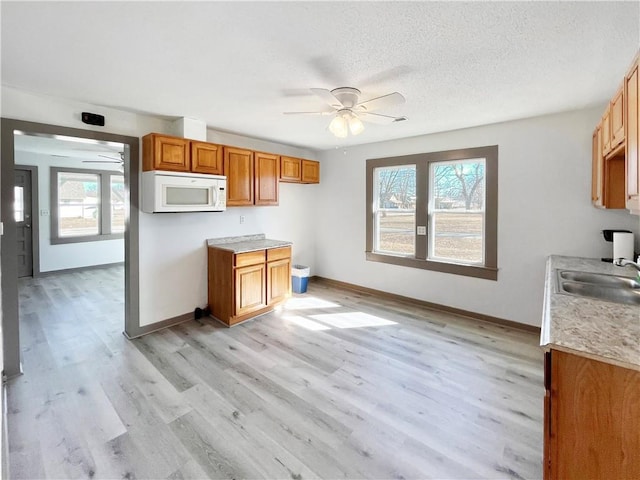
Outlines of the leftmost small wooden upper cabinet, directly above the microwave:
{"type": "Polygon", "coordinates": [[[142,170],[190,172],[189,140],[150,133],[142,138],[142,170]]]}

